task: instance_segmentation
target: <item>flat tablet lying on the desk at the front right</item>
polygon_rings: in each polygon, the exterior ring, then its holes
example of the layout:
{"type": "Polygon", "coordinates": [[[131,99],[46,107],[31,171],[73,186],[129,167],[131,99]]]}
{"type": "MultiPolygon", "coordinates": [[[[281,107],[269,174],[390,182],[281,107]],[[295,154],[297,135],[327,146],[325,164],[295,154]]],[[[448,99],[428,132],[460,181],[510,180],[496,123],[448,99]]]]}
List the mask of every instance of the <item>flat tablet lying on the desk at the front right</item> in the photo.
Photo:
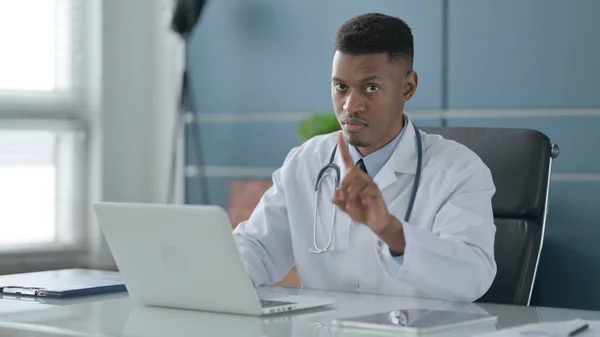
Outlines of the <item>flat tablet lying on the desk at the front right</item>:
{"type": "Polygon", "coordinates": [[[485,313],[403,309],[365,316],[337,318],[332,323],[334,326],[346,328],[429,334],[470,326],[494,325],[497,320],[497,316],[485,313]]]}

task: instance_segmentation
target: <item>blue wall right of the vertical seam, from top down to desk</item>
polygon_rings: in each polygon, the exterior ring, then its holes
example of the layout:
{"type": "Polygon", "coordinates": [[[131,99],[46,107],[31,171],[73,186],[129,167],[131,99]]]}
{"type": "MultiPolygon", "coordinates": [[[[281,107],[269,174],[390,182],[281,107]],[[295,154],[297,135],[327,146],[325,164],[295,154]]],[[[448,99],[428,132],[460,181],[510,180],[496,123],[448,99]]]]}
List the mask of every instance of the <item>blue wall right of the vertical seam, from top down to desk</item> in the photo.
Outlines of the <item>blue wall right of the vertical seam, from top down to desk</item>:
{"type": "Polygon", "coordinates": [[[448,1],[449,126],[529,127],[560,145],[535,304],[600,310],[600,1],[448,1]],[[524,109],[558,109],[557,115],[524,109]],[[517,110],[518,109],[518,110],[517,110]]]}

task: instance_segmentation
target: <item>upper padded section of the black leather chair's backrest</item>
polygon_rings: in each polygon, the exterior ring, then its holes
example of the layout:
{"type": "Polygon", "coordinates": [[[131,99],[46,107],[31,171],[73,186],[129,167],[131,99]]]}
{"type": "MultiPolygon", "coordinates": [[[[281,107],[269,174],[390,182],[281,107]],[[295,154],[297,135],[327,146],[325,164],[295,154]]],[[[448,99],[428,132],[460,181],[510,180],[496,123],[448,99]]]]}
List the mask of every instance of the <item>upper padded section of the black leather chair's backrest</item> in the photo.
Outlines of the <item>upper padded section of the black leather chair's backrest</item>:
{"type": "Polygon", "coordinates": [[[552,144],[531,129],[424,127],[475,152],[492,172],[495,217],[537,218],[545,207],[552,144]]]}

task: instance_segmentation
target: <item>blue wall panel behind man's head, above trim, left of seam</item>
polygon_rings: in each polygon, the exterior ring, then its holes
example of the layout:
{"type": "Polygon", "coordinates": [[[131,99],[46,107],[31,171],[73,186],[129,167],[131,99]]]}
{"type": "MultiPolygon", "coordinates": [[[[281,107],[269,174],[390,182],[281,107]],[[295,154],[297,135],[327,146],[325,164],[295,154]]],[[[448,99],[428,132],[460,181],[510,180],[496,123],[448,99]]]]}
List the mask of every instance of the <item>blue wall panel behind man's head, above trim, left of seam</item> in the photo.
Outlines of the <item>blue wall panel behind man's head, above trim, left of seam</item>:
{"type": "Polygon", "coordinates": [[[413,107],[439,109],[439,0],[222,0],[209,2],[190,44],[198,110],[330,110],[335,32],[348,18],[367,11],[403,16],[414,27],[422,84],[413,107]]]}

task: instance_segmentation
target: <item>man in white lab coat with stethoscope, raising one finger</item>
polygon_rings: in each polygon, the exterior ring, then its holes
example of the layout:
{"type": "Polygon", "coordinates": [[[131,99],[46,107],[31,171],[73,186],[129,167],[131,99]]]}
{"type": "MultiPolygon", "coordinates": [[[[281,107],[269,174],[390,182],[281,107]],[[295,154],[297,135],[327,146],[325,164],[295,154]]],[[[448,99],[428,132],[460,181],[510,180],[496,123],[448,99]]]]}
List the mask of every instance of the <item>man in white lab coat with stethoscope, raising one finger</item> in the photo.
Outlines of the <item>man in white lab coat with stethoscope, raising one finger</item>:
{"type": "Polygon", "coordinates": [[[257,286],[296,266],[312,289],[457,301],[489,289],[496,274],[490,171],[466,147],[413,126],[404,113],[417,89],[412,62],[412,33],[398,18],[364,14],[339,28],[331,88],[342,131],[290,151],[234,231],[257,286]],[[407,220],[419,141],[420,180],[407,220]],[[315,199],[330,160],[340,184],[329,169],[315,199]]]}

